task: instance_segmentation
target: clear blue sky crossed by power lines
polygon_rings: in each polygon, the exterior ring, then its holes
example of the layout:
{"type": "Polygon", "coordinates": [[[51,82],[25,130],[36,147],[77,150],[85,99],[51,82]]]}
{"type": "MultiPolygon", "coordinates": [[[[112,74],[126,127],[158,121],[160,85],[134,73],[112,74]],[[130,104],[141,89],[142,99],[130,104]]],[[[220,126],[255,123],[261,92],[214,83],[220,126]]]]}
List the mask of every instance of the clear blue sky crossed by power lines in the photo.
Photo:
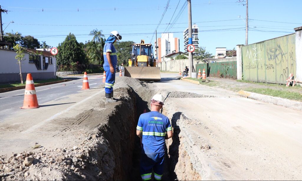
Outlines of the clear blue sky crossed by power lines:
{"type": "MultiPolygon", "coordinates": [[[[123,36],[122,41],[139,42],[145,39],[149,42],[167,2],[11,0],[0,1],[0,4],[3,9],[9,10],[8,14],[2,14],[3,29],[14,21],[5,32],[18,31],[23,36],[31,35],[40,42],[46,41],[48,45],[56,47],[69,32],[75,34],[79,42],[85,43],[92,39],[88,34],[93,29],[103,30],[106,37],[112,30],[117,30],[123,36]]],[[[184,45],[182,31],[188,27],[188,7],[185,2],[170,0],[157,29],[158,37],[162,32],[178,32],[174,33],[174,37],[180,39],[181,51],[184,45]],[[180,11],[183,5],[185,8],[180,11]],[[167,28],[169,22],[175,22],[172,28],[169,28],[171,25],[167,28]]],[[[233,49],[238,44],[245,44],[246,6],[243,4],[245,0],[192,0],[192,22],[200,27],[199,46],[215,54],[216,47],[233,49]]],[[[249,19],[253,19],[249,20],[249,44],[294,33],[295,27],[302,26],[301,6],[300,0],[249,0],[249,19]]],[[[152,42],[154,40],[155,35],[152,42]]]]}

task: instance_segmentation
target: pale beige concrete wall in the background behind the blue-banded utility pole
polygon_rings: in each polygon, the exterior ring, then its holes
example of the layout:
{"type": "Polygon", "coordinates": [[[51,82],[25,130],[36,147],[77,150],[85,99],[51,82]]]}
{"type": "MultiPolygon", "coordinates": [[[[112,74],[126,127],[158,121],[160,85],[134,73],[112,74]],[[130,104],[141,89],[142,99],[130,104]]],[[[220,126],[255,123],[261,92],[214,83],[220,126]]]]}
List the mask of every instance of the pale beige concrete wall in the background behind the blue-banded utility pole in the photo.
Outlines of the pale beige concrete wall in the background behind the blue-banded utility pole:
{"type": "MultiPolygon", "coordinates": [[[[201,63],[201,60],[193,59],[193,65],[201,63]]],[[[189,59],[178,59],[178,60],[169,60],[169,61],[163,61],[160,66],[160,70],[162,71],[175,71],[179,72],[179,68],[182,71],[184,71],[185,66],[189,66],[189,59]]],[[[195,66],[194,66],[195,68],[195,66]]],[[[196,72],[196,70],[195,70],[196,72]]]]}

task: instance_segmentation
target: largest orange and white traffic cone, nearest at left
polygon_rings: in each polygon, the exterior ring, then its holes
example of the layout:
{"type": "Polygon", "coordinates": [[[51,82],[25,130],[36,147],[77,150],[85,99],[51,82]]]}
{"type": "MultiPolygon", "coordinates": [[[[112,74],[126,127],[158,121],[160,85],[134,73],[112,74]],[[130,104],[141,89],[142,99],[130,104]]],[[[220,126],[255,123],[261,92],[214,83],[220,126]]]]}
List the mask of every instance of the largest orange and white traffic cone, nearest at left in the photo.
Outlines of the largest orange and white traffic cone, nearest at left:
{"type": "Polygon", "coordinates": [[[23,107],[20,108],[29,109],[29,108],[38,108],[38,107],[40,106],[38,104],[33,77],[31,76],[31,74],[27,74],[23,107]]]}

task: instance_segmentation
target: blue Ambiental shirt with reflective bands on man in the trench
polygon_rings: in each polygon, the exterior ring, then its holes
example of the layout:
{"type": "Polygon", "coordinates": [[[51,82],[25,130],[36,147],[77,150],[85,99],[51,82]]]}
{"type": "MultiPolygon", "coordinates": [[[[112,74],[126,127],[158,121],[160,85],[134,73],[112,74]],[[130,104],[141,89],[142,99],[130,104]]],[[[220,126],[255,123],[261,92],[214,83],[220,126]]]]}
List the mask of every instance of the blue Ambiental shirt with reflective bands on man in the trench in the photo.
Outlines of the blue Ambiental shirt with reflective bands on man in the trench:
{"type": "Polygon", "coordinates": [[[143,131],[142,143],[145,154],[165,152],[165,135],[167,131],[172,131],[167,116],[157,111],[141,114],[136,129],[143,131]]]}

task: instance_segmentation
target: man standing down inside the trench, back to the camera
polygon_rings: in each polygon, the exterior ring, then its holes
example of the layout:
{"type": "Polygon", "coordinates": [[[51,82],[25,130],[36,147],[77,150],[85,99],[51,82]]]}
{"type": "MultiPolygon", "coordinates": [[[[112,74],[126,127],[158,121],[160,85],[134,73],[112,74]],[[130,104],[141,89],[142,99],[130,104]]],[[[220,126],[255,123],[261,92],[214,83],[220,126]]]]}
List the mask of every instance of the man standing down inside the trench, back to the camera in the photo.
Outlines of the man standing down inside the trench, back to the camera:
{"type": "Polygon", "coordinates": [[[136,134],[142,143],[140,174],[143,180],[150,180],[152,169],[156,180],[162,179],[164,172],[165,139],[172,138],[172,127],[167,116],[159,113],[164,105],[164,97],[155,94],[151,100],[151,112],[140,115],[136,134]]]}

